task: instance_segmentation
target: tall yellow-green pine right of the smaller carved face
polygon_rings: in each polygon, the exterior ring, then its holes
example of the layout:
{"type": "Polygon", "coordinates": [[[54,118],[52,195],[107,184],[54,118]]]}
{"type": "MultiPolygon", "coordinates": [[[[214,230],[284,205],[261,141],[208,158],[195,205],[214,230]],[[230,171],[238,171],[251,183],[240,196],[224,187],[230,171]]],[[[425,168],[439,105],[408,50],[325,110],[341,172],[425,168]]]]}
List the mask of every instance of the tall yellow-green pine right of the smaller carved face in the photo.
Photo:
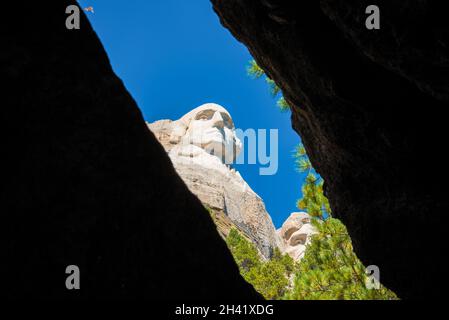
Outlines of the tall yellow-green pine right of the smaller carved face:
{"type": "Polygon", "coordinates": [[[331,217],[329,201],[323,193],[324,181],[312,173],[305,148],[295,150],[296,166],[308,171],[297,206],[314,219],[318,234],[312,236],[296,271],[294,286],[286,299],[397,299],[385,287],[368,289],[365,267],[352,248],[351,238],[340,220],[331,217]]]}

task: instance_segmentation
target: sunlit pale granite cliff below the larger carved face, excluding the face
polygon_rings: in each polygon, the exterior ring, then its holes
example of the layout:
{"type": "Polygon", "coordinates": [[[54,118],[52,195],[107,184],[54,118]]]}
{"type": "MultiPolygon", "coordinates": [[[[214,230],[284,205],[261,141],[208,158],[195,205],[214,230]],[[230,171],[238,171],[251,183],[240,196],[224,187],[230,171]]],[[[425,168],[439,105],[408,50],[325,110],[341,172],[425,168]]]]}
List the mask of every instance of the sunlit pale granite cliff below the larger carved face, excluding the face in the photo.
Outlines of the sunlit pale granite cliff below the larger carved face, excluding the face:
{"type": "MultiPolygon", "coordinates": [[[[209,105],[212,109],[216,106],[209,105]]],[[[204,107],[199,108],[207,110],[204,107]]],[[[236,170],[224,164],[219,157],[190,144],[189,141],[184,146],[178,144],[179,139],[173,141],[173,132],[177,130],[179,121],[160,120],[148,124],[148,127],[169,153],[177,173],[190,191],[212,211],[223,213],[229,218],[232,224],[256,245],[266,259],[270,258],[274,248],[281,246],[281,241],[263,200],[236,170]]],[[[189,124],[187,124],[187,132],[188,127],[189,124]]],[[[213,127],[212,122],[210,125],[203,124],[202,129],[196,129],[194,134],[207,140],[206,135],[213,127]]],[[[181,137],[183,138],[184,136],[181,137]]],[[[224,226],[229,228],[227,224],[224,226]]],[[[222,234],[228,232],[220,228],[220,225],[218,227],[222,234]]]]}

